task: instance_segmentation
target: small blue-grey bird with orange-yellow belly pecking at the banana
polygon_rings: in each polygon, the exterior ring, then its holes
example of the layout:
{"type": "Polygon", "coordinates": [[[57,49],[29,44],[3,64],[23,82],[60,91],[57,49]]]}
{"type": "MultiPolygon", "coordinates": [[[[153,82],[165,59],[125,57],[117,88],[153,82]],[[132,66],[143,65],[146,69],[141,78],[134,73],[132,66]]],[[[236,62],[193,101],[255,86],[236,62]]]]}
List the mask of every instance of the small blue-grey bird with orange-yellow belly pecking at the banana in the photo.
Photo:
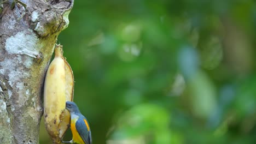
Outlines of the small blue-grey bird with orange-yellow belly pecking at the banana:
{"type": "Polygon", "coordinates": [[[91,130],[87,119],[81,114],[78,106],[72,102],[66,102],[66,109],[71,115],[70,128],[73,139],[71,141],[62,141],[63,143],[92,144],[91,130]]]}

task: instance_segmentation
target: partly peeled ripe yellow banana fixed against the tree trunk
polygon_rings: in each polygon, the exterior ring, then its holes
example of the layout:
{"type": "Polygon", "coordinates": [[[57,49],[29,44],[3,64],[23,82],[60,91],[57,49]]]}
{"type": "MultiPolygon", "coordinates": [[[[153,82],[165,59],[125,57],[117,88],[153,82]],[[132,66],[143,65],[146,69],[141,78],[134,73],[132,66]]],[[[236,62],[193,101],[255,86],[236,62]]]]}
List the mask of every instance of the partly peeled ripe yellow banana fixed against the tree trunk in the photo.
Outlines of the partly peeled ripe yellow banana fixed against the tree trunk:
{"type": "Polygon", "coordinates": [[[65,106],[74,93],[73,71],[62,54],[62,46],[56,45],[44,82],[44,124],[54,143],[61,143],[68,129],[70,115],[65,106]]]}

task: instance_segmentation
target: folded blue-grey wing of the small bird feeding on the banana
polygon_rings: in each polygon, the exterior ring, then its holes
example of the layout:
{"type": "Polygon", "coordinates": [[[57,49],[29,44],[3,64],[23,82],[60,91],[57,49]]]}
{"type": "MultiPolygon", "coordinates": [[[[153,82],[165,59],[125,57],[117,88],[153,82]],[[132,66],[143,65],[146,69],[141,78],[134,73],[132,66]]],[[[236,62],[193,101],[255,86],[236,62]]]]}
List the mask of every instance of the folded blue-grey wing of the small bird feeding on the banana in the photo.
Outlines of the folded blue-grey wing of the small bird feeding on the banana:
{"type": "Polygon", "coordinates": [[[75,123],[75,128],[86,144],[92,144],[91,130],[86,118],[78,118],[77,122],[75,123]]]}

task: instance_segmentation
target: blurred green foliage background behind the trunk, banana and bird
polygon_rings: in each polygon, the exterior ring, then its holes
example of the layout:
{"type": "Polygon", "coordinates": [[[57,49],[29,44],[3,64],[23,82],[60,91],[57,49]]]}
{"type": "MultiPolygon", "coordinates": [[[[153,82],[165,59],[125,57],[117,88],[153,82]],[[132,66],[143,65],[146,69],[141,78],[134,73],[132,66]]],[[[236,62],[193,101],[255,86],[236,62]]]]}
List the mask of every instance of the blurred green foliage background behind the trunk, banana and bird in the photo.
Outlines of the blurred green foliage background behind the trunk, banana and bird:
{"type": "Polygon", "coordinates": [[[255,143],[254,1],[75,1],[69,21],[94,144],[255,143]]]}

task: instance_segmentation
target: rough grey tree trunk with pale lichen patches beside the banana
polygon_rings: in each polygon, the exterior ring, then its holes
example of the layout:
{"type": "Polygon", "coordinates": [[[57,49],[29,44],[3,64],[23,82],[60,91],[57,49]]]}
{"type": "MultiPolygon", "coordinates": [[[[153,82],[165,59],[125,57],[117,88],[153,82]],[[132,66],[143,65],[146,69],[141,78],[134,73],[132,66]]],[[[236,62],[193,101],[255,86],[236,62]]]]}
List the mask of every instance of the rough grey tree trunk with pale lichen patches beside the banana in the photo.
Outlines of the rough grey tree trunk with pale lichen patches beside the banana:
{"type": "Polygon", "coordinates": [[[73,0],[12,2],[0,14],[0,143],[39,143],[45,71],[73,0]]]}

